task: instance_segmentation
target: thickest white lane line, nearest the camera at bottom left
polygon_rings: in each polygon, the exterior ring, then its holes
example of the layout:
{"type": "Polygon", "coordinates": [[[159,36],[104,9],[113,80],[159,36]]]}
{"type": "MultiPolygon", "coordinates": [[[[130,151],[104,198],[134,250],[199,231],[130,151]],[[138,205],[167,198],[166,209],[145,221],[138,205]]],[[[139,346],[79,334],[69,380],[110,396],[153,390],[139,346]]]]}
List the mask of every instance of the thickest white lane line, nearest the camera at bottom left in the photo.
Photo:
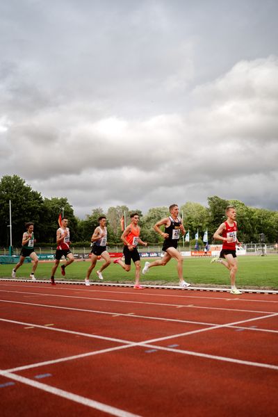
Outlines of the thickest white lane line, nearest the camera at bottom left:
{"type": "MultiPolygon", "coordinates": [[[[3,375],[1,370],[0,370],[0,375],[3,375]]],[[[13,373],[6,373],[5,377],[13,379],[14,381],[17,381],[17,382],[21,382],[22,384],[25,384],[28,386],[33,386],[33,388],[40,389],[41,391],[44,391],[50,394],[54,394],[58,397],[65,398],[66,400],[71,400],[73,402],[77,402],[78,404],[83,404],[92,409],[96,409],[104,413],[111,414],[111,416],[140,417],[138,416],[138,414],[129,413],[129,411],[124,411],[116,407],[111,407],[110,405],[104,404],[103,402],[90,400],[90,398],[85,398],[85,397],[82,397],[81,395],[76,395],[74,393],[64,391],[63,389],[56,388],[55,386],[42,384],[42,382],[33,381],[33,379],[15,375],[13,373]]]]}

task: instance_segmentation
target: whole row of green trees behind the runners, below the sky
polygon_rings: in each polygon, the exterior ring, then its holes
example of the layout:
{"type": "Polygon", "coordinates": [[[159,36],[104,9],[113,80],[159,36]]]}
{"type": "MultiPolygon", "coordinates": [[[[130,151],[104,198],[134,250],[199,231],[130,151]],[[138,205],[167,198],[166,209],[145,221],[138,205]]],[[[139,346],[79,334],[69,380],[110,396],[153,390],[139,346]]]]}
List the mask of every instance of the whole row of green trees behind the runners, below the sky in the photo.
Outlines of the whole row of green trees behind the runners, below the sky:
{"type": "MultiPolygon", "coordinates": [[[[70,221],[71,240],[74,245],[89,245],[90,237],[98,225],[99,215],[106,215],[108,220],[108,245],[119,245],[122,229],[120,220],[122,215],[129,222],[129,215],[137,212],[140,215],[141,238],[149,245],[160,245],[162,238],[153,230],[154,224],[166,217],[167,206],[149,208],[147,214],[127,206],[109,207],[107,212],[101,207],[93,208],[92,213],[79,219],[74,215],[74,209],[67,197],[42,197],[38,191],[32,190],[26,181],[17,175],[6,175],[0,180],[0,245],[10,245],[10,212],[9,201],[12,206],[13,246],[19,247],[25,222],[34,222],[37,245],[56,245],[56,230],[58,228],[58,215],[63,210],[65,217],[70,221]]],[[[169,202],[172,204],[172,202],[169,202]]],[[[278,211],[265,208],[246,206],[238,200],[222,199],[216,195],[208,197],[207,207],[195,202],[186,202],[179,206],[183,215],[186,231],[190,232],[190,242],[194,245],[195,234],[199,231],[199,245],[202,245],[204,231],[208,230],[208,242],[213,243],[214,231],[224,221],[226,206],[234,205],[237,210],[238,239],[243,243],[259,243],[260,234],[265,235],[265,243],[278,241],[278,211]]]]}

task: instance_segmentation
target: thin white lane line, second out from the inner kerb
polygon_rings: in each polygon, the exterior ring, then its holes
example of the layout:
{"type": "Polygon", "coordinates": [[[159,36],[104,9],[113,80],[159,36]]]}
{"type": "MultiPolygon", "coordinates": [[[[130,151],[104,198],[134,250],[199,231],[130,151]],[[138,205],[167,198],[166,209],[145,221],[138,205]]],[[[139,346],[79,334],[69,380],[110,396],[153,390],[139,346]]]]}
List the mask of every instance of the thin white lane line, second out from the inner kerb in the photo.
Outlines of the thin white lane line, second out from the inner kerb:
{"type": "MultiPolygon", "coordinates": [[[[0,290],[2,293],[12,293],[12,294],[38,294],[38,293],[26,293],[25,291],[6,291],[0,290]]],[[[47,294],[42,293],[42,297],[58,297],[58,298],[70,298],[74,300],[86,300],[86,301],[107,301],[107,302],[120,302],[122,304],[144,304],[144,305],[151,305],[151,306],[163,306],[163,307],[177,307],[181,304],[168,304],[168,303],[159,303],[159,302],[144,302],[144,301],[132,301],[132,300],[113,300],[110,298],[98,298],[98,297],[77,297],[74,295],[59,295],[59,294],[47,294]]],[[[246,309],[227,309],[222,307],[207,307],[207,306],[188,306],[184,305],[184,307],[194,308],[194,309],[205,309],[205,310],[219,310],[219,311],[239,311],[239,312],[246,312],[246,313],[260,313],[260,314],[272,314],[276,313],[276,311],[257,311],[257,310],[246,310],[246,309]]]]}

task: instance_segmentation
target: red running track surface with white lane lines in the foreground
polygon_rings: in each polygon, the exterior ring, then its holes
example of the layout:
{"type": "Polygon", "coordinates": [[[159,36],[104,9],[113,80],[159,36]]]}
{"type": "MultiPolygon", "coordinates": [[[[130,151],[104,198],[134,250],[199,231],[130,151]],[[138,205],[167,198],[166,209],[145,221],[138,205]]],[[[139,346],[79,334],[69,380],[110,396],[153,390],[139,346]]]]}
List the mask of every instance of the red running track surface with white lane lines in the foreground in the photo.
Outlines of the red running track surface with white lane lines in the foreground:
{"type": "Polygon", "coordinates": [[[0,281],[0,415],[278,415],[277,295],[0,281]]]}

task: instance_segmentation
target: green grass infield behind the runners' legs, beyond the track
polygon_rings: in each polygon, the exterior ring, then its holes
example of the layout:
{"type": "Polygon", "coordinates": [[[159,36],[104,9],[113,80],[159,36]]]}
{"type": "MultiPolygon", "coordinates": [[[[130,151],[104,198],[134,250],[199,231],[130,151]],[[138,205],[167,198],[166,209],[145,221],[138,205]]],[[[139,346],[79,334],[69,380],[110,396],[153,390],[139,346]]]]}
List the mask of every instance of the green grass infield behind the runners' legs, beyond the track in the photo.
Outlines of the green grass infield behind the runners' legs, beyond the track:
{"type": "MultiPolygon", "coordinates": [[[[142,259],[142,267],[146,259],[142,259]]],[[[149,260],[153,261],[153,259],[149,260]]],[[[213,263],[211,259],[186,258],[183,261],[183,275],[186,281],[197,286],[229,286],[229,271],[222,265],[213,263]]],[[[97,279],[96,270],[102,261],[98,261],[92,271],[91,281],[97,279]]],[[[50,279],[52,262],[40,262],[35,273],[37,279],[50,279]]],[[[62,264],[62,262],[61,262],[62,264]]],[[[88,261],[75,261],[66,269],[66,280],[83,281],[85,272],[90,263],[88,261]]],[[[13,265],[0,265],[0,277],[10,277],[13,265]]],[[[31,263],[24,263],[17,271],[17,278],[28,278],[31,272],[31,263]]],[[[125,272],[120,265],[111,265],[103,272],[105,282],[133,283],[134,267],[125,272]]],[[[56,280],[64,279],[60,268],[56,271],[56,280]]],[[[170,261],[165,267],[149,270],[147,275],[141,275],[142,284],[168,284],[177,285],[177,263],[170,261]]],[[[278,290],[278,256],[238,256],[238,274],[236,278],[238,288],[271,288],[278,290]]]]}

